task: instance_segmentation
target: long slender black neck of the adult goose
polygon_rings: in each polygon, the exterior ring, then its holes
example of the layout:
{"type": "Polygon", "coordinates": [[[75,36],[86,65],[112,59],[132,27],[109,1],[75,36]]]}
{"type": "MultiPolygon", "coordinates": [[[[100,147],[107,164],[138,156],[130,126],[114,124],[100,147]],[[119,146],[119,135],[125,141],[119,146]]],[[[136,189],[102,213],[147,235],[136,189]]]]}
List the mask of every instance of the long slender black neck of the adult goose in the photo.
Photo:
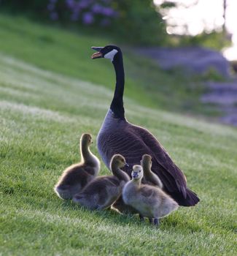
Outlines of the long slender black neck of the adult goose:
{"type": "Polygon", "coordinates": [[[119,51],[114,60],[114,69],[116,73],[116,86],[114,91],[114,97],[110,105],[110,109],[114,113],[115,118],[125,119],[123,108],[123,90],[124,90],[124,69],[123,69],[123,55],[119,51]]]}

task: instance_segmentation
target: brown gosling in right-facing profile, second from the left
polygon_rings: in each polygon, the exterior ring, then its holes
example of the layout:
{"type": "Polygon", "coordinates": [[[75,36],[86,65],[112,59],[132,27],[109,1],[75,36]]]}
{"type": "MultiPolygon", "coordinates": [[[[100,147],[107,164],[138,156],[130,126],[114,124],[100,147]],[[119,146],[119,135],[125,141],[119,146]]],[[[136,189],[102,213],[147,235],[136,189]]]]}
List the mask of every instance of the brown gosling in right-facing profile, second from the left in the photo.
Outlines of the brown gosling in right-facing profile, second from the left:
{"type": "Polygon", "coordinates": [[[120,154],[115,154],[110,164],[113,176],[95,178],[82,192],[74,195],[73,201],[91,210],[101,210],[112,206],[112,203],[122,194],[123,186],[130,181],[128,174],[120,169],[125,165],[125,158],[120,154]]]}

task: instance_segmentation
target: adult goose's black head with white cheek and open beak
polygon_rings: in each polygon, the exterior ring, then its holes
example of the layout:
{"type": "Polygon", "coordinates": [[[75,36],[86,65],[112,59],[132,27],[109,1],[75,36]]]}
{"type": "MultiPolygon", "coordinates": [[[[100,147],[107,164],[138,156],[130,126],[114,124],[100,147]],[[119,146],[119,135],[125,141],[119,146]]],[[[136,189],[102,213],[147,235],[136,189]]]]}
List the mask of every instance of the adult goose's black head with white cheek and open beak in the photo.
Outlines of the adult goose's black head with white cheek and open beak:
{"type": "Polygon", "coordinates": [[[106,45],[105,47],[92,47],[96,53],[91,56],[91,59],[106,58],[114,61],[114,57],[121,53],[120,48],[116,45],[106,45]]]}

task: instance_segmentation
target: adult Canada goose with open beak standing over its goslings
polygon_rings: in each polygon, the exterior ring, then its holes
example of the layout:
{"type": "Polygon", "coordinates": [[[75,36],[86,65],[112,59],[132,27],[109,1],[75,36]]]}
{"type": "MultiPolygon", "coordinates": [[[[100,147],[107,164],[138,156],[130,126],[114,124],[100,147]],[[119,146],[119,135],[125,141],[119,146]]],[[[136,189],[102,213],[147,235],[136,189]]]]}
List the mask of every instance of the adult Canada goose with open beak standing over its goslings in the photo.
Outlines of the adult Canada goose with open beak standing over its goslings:
{"type": "Polygon", "coordinates": [[[125,171],[130,175],[131,167],[140,163],[144,154],[153,159],[152,170],[158,174],[163,189],[179,203],[180,206],[195,206],[198,196],[187,188],[187,181],[182,170],[169,157],[158,140],[142,127],[129,123],[123,108],[124,69],[123,54],[114,45],[92,47],[96,53],[92,59],[106,58],[112,61],[116,73],[116,86],[110,108],[98,133],[97,147],[106,166],[114,154],[122,154],[129,167],[125,171]]]}

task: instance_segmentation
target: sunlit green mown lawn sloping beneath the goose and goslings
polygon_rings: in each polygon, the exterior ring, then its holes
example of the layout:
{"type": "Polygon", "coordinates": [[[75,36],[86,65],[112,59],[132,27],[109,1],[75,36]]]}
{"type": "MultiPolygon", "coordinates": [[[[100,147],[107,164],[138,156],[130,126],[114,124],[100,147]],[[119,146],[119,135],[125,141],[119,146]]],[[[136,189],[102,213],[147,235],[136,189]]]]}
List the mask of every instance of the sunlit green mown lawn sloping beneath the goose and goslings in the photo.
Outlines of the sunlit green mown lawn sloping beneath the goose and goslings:
{"type": "MultiPolygon", "coordinates": [[[[142,88],[128,98],[132,77],[125,92],[129,121],[159,138],[201,203],[180,208],[155,229],[53,194],[61,171],[78,160],[79,135],[96,138],[114,74],[109,61],[88,59],[87,47],[98,39],[21,22],[0,18],[9,26],[0,27],[2,255],[234,255],[236,129],[142,107],[142,88]]],[[[153,104],[149,94],[142,97],[153,104]]],[[[97,154],[95,145],[92,151],[97,154]]],[[[101,173],[109,173],[104,165],[101,173]]]]}

